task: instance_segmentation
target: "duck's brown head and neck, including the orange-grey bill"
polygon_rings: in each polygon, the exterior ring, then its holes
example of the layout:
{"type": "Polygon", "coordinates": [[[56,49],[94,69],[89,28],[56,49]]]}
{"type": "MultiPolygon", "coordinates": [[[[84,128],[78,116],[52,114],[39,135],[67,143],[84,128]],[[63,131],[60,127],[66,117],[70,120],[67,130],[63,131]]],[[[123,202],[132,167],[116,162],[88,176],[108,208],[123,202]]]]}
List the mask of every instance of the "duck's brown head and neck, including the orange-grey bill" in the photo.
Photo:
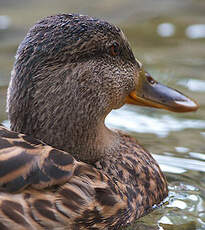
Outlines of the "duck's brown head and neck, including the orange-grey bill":
{"type": "Polygon", "coordinates": [[[118,135],[104,119],[125,103],[175,112],[198,108],[143,69],[115,25],[61,14],[29,30],[8,89],[12,130],[94,162],[118,148],[118,135]]]}

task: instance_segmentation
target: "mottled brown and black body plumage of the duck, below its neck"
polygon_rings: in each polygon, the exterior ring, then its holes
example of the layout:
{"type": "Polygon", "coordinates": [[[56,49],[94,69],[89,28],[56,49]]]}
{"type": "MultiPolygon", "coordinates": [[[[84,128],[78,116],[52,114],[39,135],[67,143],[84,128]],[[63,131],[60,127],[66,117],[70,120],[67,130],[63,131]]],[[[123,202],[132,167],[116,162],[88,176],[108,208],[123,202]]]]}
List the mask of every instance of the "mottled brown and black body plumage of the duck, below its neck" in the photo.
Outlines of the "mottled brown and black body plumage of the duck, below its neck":
{"type": "Polygon", "coordinates": [[[167,196],[157,163],[129,136],[91,166],[3,126],[0,135],[2,229],[118,229],[167,196]]]}

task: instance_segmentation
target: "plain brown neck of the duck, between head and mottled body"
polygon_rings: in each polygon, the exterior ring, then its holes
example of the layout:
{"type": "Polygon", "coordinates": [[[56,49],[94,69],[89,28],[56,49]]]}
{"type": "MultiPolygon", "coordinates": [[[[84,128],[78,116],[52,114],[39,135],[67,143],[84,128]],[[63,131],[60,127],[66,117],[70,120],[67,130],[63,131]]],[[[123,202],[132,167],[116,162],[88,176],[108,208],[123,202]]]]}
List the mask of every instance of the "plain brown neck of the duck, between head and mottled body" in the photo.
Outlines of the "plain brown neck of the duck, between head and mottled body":
{"type": "Polygon", "coordinates": [[[38,124],[35,129],[31,125],[31,128],[23,132],[86,163],[94,163],[117,150],[118,134],[105,126],[104,118],[91,118],[86,112],[79,113],[79,110],[76,114],[74,109],[69,114],[64,114],[64,118],[59,114],[52,115],[55,116],[55,122],[48,118],[47,121],[50,120],[50,123],[38,124]]]}

